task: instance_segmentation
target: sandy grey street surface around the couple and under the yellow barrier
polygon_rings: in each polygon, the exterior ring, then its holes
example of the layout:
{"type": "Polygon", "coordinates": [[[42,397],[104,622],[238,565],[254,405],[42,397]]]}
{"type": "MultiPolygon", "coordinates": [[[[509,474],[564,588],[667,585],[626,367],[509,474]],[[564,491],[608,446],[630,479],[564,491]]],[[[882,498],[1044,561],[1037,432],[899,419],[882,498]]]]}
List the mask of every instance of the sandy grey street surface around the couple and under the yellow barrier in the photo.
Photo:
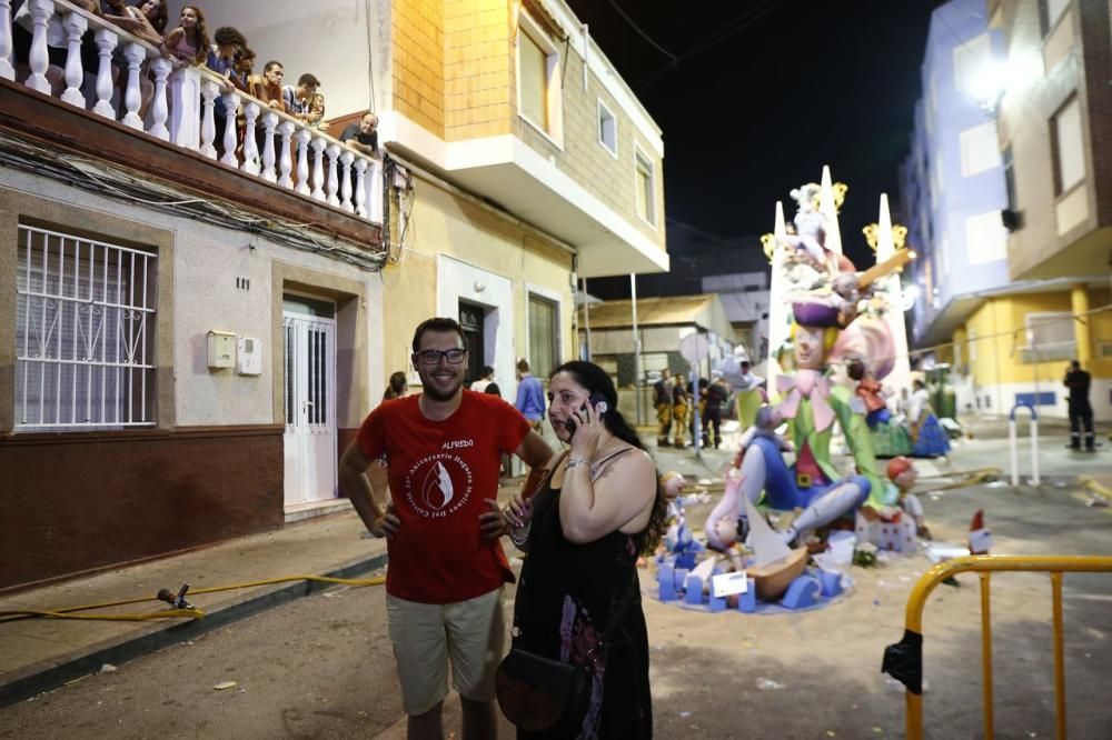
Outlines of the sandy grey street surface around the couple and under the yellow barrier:
{"type": "MultiPolygon", "coordinates": [[[[923,499],[941,539],[960,540],[984,508],[1001,553],[1095,554],[1112,543],[1112,510],[1086,507],[1069,488],[982,486],[923,499]]],[[[695,508],[692,520],[705,513],[695,508]]],[[[878,669],[927,567],[914,556],[853,568],[847,598],[780,617],[647,599],[657,737],[902,737],[903,692],[878,669]]],[[[959,582],[940,587],[924,620],[929,738],[983,737],[977,579],[959,582]]],[[[1049,579],[992,583],[996,737],[1054,737],[1049,579]]],[[[1066,576],[1071,739],[1112,737],[1110,604],[1112,574],[1066,576]]],[[[0,738],[404,737],[384,611],[380,587],[319,593],[7,708],[0,738]],[[235,686],[215,688],[227,681],[235,686]]],[[[447,729],[459,737],[458,711],[447,729]]]]}

